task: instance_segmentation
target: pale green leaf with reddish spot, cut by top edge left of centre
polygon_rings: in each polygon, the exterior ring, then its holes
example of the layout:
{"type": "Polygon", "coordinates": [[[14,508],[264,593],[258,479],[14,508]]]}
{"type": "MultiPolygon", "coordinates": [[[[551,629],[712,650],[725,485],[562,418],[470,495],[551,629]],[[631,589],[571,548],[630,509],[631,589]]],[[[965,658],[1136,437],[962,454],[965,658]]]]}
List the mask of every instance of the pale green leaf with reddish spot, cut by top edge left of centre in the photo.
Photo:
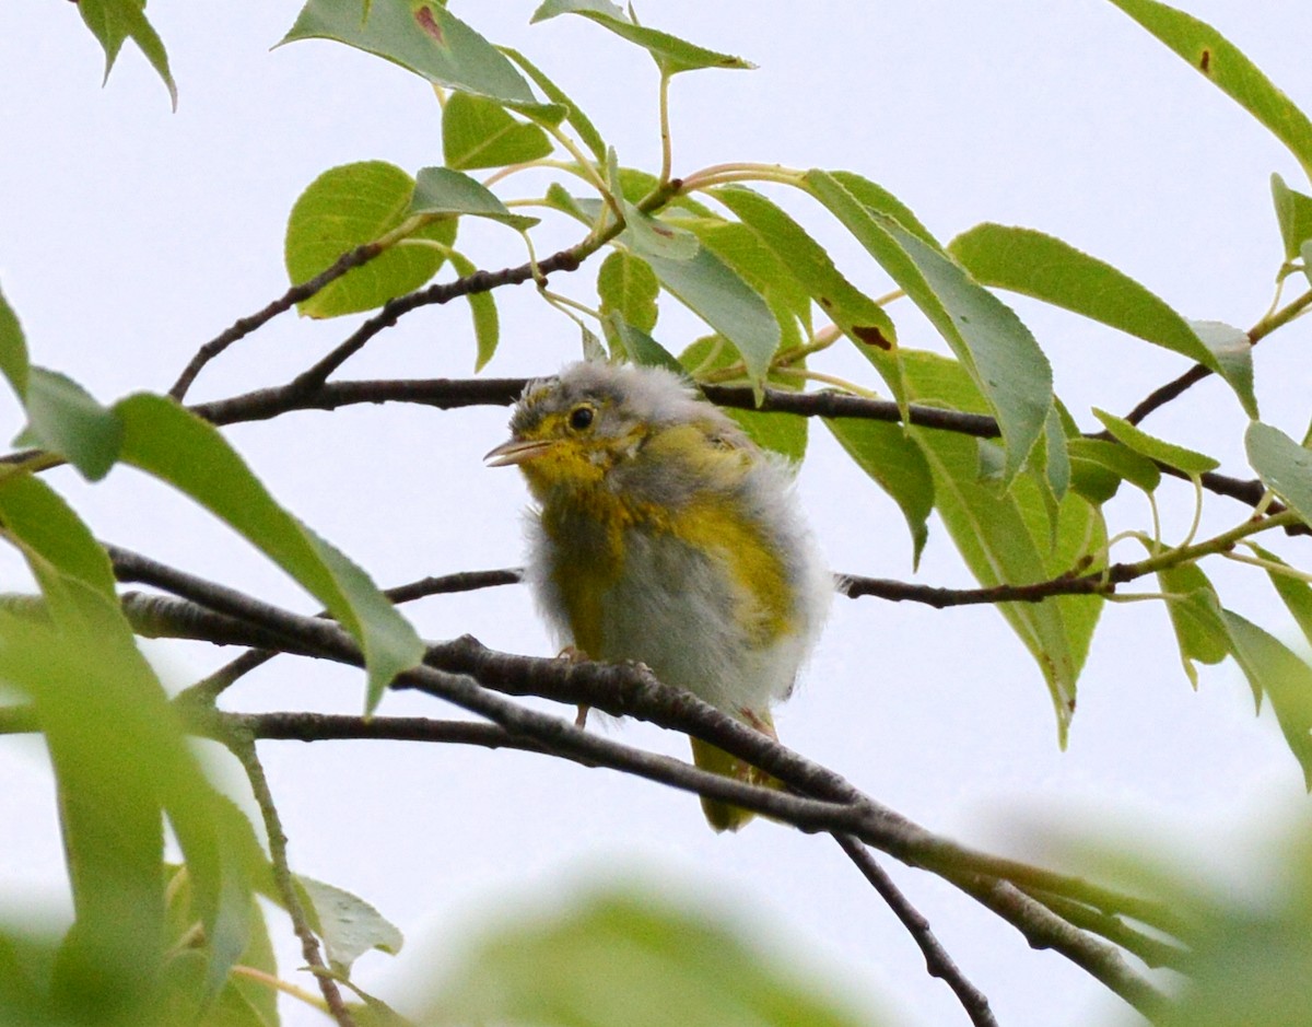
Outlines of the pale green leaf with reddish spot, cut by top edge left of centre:
{"type": "Polygon", "coordinates": [[[278,45],[298,39],[335,39],[438,85],[478,93],[552,123],[565,114],[564,108],[539,101],[514,64],[438,0],[386,0],[367,9],[359,0],[310,0],[278,45]]]}

